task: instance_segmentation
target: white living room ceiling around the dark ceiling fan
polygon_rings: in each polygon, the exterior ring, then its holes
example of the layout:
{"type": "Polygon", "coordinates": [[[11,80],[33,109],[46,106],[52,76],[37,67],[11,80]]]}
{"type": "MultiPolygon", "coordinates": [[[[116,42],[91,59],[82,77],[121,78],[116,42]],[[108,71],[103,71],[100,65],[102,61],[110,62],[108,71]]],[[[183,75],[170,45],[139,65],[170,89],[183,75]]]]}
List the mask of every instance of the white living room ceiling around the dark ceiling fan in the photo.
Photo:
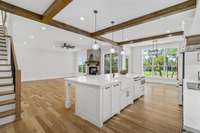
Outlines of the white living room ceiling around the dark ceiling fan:
{"type": "MultiPolygon", "coordinates": [[[[12,15],[13,37],[16,46],[39,49],[55,49],[58,44],[69,42],[77,50],[91,48],[94,40],[79,34],[61,30],[29,19],[12,15]],[[23,29],[23,32],[22,32],[23,29]]],[[[102,47],[111,46],[99,42],[102,47]]]]}

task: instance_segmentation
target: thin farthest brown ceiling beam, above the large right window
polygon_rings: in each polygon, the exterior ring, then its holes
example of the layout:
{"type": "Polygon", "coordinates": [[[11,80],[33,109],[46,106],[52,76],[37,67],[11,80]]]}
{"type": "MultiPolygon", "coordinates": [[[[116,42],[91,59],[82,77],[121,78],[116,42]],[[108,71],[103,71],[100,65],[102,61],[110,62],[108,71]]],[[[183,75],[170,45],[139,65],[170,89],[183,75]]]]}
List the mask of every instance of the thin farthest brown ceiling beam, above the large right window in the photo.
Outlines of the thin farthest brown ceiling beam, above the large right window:
{"type": "Polygon", "coordinates": [[[118,42],[118,45],[133,44],[133,43],[139,43],[139,42],[144,42],[144,41],[149,41],[149,40],[162,39],[162,38],[166,38],[166,37],[181,36],[181,35],[184,35],[183,31],[118,42]]]}

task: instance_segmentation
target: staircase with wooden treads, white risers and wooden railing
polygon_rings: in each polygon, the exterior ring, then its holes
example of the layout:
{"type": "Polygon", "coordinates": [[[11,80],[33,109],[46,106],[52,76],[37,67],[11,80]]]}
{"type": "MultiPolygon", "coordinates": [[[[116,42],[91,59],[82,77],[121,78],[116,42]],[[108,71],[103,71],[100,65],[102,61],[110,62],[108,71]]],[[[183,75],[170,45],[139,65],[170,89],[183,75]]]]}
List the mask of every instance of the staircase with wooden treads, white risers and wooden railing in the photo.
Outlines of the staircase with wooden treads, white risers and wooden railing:
{"type": "Polygon", "coordinates": [[[21,113],[21,72],[18,68],[16,69],[12,38],[5,36],[4,29],[3,26],[0,26],[0,125],[20,119],[21,113]],[[11,49],[9,49],[8,44],[10,44],[11,49]]]}

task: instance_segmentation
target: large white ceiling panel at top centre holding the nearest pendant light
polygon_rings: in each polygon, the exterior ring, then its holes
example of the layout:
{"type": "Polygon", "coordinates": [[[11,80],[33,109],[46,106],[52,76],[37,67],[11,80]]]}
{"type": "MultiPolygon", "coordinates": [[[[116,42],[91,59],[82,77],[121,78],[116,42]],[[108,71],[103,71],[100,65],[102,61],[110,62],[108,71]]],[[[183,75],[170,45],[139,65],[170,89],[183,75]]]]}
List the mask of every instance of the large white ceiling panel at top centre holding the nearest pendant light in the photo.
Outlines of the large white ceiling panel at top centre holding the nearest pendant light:
{"type": "Polygon", "coordinates": [[[110,26],[110,21],[116,24],[143,16],[185,0],[73,0],[54,19],[81,29],[94,31],[93,10],[99,11],[97,29],[110,26]],[[81,21],[80,17],[85,20],[81,21]]]}

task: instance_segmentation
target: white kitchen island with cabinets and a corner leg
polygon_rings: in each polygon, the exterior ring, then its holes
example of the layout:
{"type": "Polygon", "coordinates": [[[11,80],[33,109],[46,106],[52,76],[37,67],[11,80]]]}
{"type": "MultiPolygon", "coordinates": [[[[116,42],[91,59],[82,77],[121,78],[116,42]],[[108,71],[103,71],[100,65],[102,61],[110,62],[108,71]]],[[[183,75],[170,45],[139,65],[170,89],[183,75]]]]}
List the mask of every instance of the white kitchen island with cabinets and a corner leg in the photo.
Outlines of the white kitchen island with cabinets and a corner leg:
{"type": "MultiPolygon", "coordinates": [[[[75,85],[75,114],[97,127],[102,127],[106,120],[120,114],[120,111],[129,104],[133,104],[134,99],[138,98],[135,97],[136,82],[141,84],[142,79],[141,76],[133,74],[66,78],[65,107],[71,107],[70,92],[72,85],[75,85]]],[[[142,89],[137,84],[138,87],[142,89]]],[[[144,88],[140,92],[142,91],[144,88]]]]}

